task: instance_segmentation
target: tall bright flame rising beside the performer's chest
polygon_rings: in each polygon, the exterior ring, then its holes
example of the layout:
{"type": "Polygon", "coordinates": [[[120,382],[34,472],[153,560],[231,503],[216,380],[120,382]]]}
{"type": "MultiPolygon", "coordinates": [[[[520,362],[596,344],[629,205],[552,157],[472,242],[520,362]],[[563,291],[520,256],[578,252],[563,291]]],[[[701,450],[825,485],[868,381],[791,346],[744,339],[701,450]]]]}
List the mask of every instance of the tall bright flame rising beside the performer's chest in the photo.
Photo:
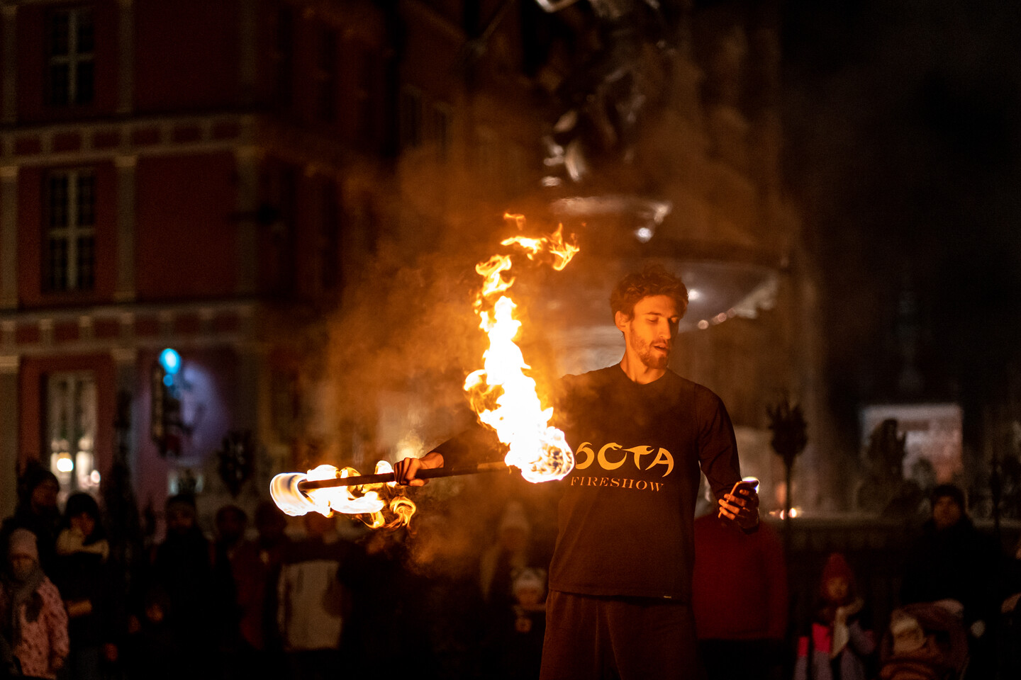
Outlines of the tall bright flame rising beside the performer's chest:
{"type": "MultiPolygon", "coordinates": [[[[519,228],[521,215],[505,215],[519,228]]],[[[528,259],[548,261],[560,271],[578,252],[564,240],[563,226],[548,237],[513,237],[502,246],[518,246],[528,259]]],[[[499,440],[509,447],[503,461],[521,469],[531,481],[562,479],[574,468],[574,455],[564,432],[549,425],[552,408],[543,408],[535,391],[535,380],[525,374],[530,367],[515,344],[521,322],[514,316],[516,305],[504,295],[514,285],[513,255],[494,255],[476,265],[483,278],[475,300],[479,327],[489,336],[489,349],[482,355],[483,368],[465,380],[472,409],[479,420],[496,430],[499,440]]]]}

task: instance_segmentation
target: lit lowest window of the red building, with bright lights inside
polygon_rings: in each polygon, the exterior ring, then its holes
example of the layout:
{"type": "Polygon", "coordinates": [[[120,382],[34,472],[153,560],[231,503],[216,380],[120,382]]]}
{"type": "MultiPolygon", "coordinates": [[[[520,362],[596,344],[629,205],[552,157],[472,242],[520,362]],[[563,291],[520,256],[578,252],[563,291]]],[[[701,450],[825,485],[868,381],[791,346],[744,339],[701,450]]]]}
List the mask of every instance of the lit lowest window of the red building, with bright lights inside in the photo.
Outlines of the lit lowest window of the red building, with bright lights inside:
{"type": "Polygon", "coordinates": [[[90,371],[47,376],[46,436],[50,470],[60,482],[60,491],[98,491],[96,379],[90,371]]]}

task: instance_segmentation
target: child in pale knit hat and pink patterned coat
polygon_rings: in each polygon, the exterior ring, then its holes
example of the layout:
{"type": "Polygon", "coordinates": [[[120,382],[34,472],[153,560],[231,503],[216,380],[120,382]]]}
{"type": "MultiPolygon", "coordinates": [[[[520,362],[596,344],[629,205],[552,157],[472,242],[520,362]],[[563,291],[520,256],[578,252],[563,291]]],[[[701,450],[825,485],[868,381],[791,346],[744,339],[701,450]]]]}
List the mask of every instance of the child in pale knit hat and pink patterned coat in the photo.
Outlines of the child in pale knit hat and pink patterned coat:
{"type": "Polygon", "coordinates": [[[0,635],[9,644],[15,671],[55,679],[68,651],[67,613],[39,566],[36,534],[14,529],[7,558],[0,576],[0,635]]]}

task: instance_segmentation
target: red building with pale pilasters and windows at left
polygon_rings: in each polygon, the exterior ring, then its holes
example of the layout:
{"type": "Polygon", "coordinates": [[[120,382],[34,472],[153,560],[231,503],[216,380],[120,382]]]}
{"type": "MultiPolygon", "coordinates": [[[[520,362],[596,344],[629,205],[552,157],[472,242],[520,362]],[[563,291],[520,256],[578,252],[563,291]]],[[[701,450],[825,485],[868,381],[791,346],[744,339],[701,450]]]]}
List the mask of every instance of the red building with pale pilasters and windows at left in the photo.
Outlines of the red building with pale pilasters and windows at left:
{"type": "Polygon", "coordinates": [[[137,491],[159,507],[181,462],[258,429],[270,367],[287,373],[277,357],[293,349],[275,329],[333,305],[372,241],[384,16],[369,2],[4,2],[2,36],[3,510],[30,459],[70,459],[64,485],[95,486],[118,393],[137,491]],[[152,436],[165,348],[182,358],[180,458],[152,436]]]}

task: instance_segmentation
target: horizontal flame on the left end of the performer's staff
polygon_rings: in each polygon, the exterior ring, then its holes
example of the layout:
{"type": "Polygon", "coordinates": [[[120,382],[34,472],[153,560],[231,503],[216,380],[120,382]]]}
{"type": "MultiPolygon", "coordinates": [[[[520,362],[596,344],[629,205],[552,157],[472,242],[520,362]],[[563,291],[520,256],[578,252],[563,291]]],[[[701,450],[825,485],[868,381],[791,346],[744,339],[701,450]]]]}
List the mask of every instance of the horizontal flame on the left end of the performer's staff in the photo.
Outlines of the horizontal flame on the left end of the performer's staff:
{"type": "MultiPolygon", "coordinates": [[[[393,472],[393,466],[386,461],[376,464],[376,474],[393,472]]],[[[290,473],[274,477],[270,486],[274,503],[292,517],[318,512],[327,517],[331,513],[357,515],[362,522],[373,529],[386,527],[389,529],[403,526],[411,521],[415,514],[415,503],[403,495],[396,482],[379,482],[375,484],[358,484],[355,486],[332,486],[314,488],[307,491],[298,489],[298,483],[304,480],[320,481],[337,477],[354,477],[358,471],[354,468],[337,469],[332,465],[320,465],[309,470],[308,474],[290,473]]]]}

